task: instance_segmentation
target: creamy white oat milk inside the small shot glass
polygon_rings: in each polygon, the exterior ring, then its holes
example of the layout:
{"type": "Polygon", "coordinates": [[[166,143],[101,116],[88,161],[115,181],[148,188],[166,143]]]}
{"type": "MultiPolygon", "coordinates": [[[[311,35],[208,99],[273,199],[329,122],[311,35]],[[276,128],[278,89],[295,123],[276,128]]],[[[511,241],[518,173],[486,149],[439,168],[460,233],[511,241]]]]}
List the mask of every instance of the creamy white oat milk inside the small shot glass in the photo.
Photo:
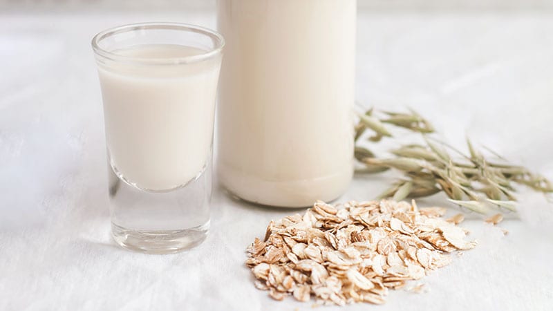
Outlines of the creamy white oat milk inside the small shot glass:
{"type": "MultiPolygon", "coordinates": [[[[115,51],[167,59],[205,53],[152,44],[115,51]]],[[[194,64],[99,64],[106,144],[111,164],[127,182],[164,191],[185,185],[211,157],[221,57],[194,64]]]]}

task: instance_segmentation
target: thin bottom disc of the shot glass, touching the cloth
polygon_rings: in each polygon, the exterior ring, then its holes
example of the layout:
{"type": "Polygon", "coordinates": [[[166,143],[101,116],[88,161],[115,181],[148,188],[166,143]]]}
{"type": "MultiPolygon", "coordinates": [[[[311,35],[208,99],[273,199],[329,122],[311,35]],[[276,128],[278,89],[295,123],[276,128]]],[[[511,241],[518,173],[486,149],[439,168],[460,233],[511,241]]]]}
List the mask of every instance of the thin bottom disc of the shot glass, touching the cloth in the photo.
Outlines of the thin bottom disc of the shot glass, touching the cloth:
{"type": "Polygon", "coordinates": [[[121,247],[145,254],[174,254],[202,243],[209,232],[205,225],[185,230],[133,230],[111,223],[111,234],[121,247]]]}

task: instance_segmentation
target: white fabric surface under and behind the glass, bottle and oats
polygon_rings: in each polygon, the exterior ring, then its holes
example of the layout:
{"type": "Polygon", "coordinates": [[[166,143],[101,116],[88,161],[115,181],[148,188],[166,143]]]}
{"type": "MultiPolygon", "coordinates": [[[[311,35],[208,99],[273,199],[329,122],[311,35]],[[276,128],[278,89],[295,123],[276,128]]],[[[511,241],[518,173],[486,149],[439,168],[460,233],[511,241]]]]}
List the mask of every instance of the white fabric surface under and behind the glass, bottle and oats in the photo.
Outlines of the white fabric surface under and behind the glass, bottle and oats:
{"type": "MultiPolygon", "coordinates": [[[[411,106],[444,139],[469,134],[552,178],[552,17],[360,12],[357,97],[411,106]]],[[[214,26],[214,15],[0,13],[0,310],[311,310],[272,301],[243,265],[269,220],[301,210],[256,207],[216,189],[212,232],[189,252],[135,254],[111,241],[89,42],[136,21],[214,26]]],[[[390,181],[356,178],[341,201],[371,199],[390,181]]],[[[469,215],[464,225],[478,247],[422,280],[424,293],[391,292],[384,308],[552,310],[553,206],[527,191],[519,197],[521,213],[501,224],[509,235],[469,215]]]]}

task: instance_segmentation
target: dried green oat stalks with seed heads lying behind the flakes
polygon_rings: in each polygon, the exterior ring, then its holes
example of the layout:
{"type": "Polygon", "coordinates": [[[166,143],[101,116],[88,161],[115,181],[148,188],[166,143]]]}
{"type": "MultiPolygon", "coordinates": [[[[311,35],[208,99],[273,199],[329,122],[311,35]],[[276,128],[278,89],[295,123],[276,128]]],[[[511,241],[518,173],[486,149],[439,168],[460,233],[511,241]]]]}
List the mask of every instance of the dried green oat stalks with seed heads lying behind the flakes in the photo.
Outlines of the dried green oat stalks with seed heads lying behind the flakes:
{"type": "Polygon", "coordinates": [[[359,115],[355,126],[355,158],[364,167],[358,173],[379,173],[396,169],[404,173],[386,190],[381,198],[420,198],[444,192],[449,200],[472,211],[486,214],[488,207],[516,210],[515,184],[525,185],[544,194],[553,193],[553,185],[547,178],[532,173],[525,167],[509,164],[497,153],[485,157],[467,140],[469,153],[453,149],[448,144],[429,137],[434,129],[431,123],[418,113],[375,112],[373,109],[359,115]],[[377,117],[381,115],[381,117],[377,117]],[[424,143],[405,144],[391,151],[391,158],[377,158],[366,149],[368,141],[378,142],[391,137],[386,124],[400,126],[415,133],[422,133],[424,143]],[[370,131],[371,135],[366,135],[370,131]],[[453,153],[455,156],[451,156],[453,153]]]}

